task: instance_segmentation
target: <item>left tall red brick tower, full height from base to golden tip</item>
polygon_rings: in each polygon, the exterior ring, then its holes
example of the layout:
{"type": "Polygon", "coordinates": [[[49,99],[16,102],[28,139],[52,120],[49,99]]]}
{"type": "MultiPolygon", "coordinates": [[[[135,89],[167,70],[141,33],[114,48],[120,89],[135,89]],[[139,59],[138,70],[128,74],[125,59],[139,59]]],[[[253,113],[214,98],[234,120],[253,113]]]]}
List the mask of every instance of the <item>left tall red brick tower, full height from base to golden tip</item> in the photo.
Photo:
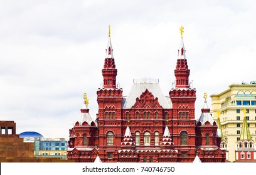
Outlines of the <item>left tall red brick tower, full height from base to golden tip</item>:
{"type": "MultiPolygon", "coordinates": [[[[104,161],[104,156],[109,155],[112,161],[118,161],[117,152],[108,152],[115,150],[117,146],[121,146],[122,135],[119,134],[124,129],[122,128],[121,110],[122,110],[122,88],[117,87],[116,76],[117,69],[115,68],[115,59],[113,56],[113,48],[109,37],[102,69],[103,84],[97,91],[97,103],[99,104],[99,113],[97,121],[99,127],[99,155],[104,161]],[[107,138],[107,139],[106,139],[107,138]],[[106,151],[107,146],[107,151],[106,151]]],[[[105,162],[105,161],[104,161],[105,162]]]]}

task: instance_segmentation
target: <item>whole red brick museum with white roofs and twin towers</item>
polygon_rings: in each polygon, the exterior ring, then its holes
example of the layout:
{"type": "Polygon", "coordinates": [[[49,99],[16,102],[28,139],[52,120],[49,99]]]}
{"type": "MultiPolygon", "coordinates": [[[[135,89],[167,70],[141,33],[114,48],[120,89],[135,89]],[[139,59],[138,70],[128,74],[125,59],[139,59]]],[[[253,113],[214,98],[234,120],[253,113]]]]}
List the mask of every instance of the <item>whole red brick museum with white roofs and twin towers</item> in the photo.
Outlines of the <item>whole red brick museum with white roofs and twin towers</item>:
{"type": "MultiPolygon", "coordinates": [[[[225,162],[221,134],[211,118],[205,98],[195,120],[196,89],[189,83],[183,27],[174,74],[176,83],[164,96],[157,79],[135,79],[129,96],[116,83],[117,69],[110,39],[106,49],[103,83],[97,90],[97,119],[89,114],[88,99],[70,129],[68,159],[104,162],[225,162]]],[[[103,61],[103,60],[102,60],[103,61]]],[[[131,65],[132,66],[132,65],[131,65]]],[[[100,81],[100,80],[99,80],[100,81]]]]}

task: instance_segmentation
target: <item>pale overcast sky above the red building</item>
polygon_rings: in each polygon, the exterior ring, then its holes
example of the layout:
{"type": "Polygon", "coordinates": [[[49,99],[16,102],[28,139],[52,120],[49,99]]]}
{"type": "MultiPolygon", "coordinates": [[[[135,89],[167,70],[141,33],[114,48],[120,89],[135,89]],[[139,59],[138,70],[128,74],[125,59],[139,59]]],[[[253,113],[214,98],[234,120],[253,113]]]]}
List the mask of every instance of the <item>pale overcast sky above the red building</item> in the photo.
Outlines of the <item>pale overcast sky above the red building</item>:
{"type": "MultiPolygon", "coordinates": [[[[108,26],[117,81],[158,78],[168,96],[175,80],[179,27],[196,118],[208,96],[256,80],[255,1],[0,1],[0,120],[17,133],[68,138],[83,93],[95,118],[108,26]]],[[[208,98],[208,106],[211,106],[208,98]]]]}

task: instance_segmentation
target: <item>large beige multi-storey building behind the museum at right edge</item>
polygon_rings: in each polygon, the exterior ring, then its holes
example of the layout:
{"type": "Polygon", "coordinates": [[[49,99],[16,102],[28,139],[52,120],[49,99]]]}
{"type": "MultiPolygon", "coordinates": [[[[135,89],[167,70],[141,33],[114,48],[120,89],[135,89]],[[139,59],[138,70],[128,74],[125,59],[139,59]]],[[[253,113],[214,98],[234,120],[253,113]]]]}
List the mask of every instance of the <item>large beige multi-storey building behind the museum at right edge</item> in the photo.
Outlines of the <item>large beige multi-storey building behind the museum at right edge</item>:
{"type": "Polygon", "coordinates": [[[227,143],[228,161],[233,162],[244,117],[247,119],[251,139],[256,140],[256,81],[231,84],[226,91],[210,97],[211,114],[215,120],[220,117],[223,139],[227,143]],[[243,113],[244,109],[246,113],[243,113]]]}

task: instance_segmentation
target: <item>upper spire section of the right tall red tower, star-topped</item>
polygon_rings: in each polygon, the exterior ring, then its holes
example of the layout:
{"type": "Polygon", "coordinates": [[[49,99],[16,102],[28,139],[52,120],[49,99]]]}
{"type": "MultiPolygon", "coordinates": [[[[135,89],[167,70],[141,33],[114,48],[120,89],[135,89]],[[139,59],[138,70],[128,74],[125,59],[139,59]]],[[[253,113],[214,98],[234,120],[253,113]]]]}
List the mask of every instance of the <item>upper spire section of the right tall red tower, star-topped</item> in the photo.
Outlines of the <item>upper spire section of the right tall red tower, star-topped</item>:
{"type": "Polygon", "coordinates": [[[189,73],[188,64],[185,56],[185,47],[183,42],[183,32],[184,27],[180,27],[179,31],[181,33],[181,40],[179,43],[178,49],[178,59],[176,64],[176,69],[174,70],[174,74],[176,76],[176,88],[189,88],[189,73]]]}

